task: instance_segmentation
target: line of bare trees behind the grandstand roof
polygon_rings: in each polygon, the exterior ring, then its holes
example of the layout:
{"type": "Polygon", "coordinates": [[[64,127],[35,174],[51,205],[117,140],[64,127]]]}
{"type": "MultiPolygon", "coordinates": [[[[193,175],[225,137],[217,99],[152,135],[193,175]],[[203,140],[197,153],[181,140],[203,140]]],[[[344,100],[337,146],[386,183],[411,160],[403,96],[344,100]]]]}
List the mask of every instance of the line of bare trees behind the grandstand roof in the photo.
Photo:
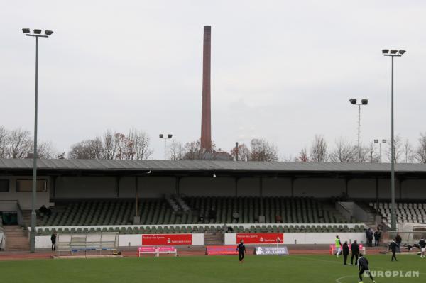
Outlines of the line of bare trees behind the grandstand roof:
{"type": "MultiPolygon", "coordinates": [[[[395,136],[395,162],[426,163],[426,132],[420,133],[417,147],[395,136]]],[[[38,157],[45,159],[97,159],[97,160],[148,160],[153,155],[151,138],[145,131],[131,128],[127,133],[107,130],[102,135],[71,145],[68,152],[58,152],[53,143],[38,141],[38,157]]],[[[0,126],[0,158],[27,158],[33,155],[33,135],[16,128],[0,126]]],[[[181,143],[173,139],[167,148],[168,160],[239,160],[239,161],[295,161],[295,162],[390,162],[391,143],[369,143],[359,148],[349,140],[338,138],[330,144],[322,135],[315,135],[309,147],[300,150],[296,157],[279,157],[278,147],[263,138],[250,143],[240,143],[230,150],[217,148],[212,142],[212,152],[204,152],[200,140],[181,143]]]]}

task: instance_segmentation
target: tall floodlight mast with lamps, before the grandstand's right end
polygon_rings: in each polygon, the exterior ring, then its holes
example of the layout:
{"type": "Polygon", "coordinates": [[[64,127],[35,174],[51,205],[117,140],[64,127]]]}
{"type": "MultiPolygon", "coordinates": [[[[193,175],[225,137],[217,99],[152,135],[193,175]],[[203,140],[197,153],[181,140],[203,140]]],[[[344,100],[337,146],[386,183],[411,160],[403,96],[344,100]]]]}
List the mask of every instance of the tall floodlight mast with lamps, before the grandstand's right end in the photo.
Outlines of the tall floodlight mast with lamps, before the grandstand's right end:
{"type": "Polygon", "coordinates": [[[392,71],[391,71],[391,230],[396,231],[396,214],[395,214],[395,138],[393,133],[393,57],[401,57],[405,50],[388,50],[383,49],[384,56],[392,58],[392,71]]]}

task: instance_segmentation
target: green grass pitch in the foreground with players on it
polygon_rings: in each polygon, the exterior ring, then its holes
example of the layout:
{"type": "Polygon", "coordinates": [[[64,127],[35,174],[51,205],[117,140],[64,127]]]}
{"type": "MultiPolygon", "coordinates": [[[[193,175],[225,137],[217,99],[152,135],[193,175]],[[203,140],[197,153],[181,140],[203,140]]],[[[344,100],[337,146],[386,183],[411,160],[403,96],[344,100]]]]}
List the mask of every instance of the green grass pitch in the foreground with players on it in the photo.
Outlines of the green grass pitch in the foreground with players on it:
{"type": "MultiPolygon", "coordinates": [[[[400,255],[367,256],[371,270],[420,272],[420,277],[381,277],[376,282],[426,282],[426,259],[400,255]]],[[[0,261],[1,283],[95,282],[359,282],[357,267],[331,255],[247,256],[239,264],[233,256],[144,257],[79,260],[0,261]]],[[[365,282],[371,282],[369,278],[365,282]]]]}

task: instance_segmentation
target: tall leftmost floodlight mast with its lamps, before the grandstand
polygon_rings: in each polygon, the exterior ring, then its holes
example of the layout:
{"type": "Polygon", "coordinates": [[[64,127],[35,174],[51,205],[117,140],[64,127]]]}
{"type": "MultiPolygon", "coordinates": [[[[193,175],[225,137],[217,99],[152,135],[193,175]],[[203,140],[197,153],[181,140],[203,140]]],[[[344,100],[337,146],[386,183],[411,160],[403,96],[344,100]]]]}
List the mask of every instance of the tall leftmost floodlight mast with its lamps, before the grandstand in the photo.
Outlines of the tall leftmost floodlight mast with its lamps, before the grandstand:
{"type": "Polygon", "coordinates": [[[35,103],[34,103],[34,152],[33,152],[33,188],[31,190],[31,230],[30,230],[30,253],[35,252],[35,224],[37,214],[35,206],[37,205],[37,118],[38,118],[38,38],[48,38],[52,35],[52,30],[45,30],[45,35],[41,30],[35,29],[33,33],[29,28],[22,29],[23,34],[35,38],[35,103]]]}

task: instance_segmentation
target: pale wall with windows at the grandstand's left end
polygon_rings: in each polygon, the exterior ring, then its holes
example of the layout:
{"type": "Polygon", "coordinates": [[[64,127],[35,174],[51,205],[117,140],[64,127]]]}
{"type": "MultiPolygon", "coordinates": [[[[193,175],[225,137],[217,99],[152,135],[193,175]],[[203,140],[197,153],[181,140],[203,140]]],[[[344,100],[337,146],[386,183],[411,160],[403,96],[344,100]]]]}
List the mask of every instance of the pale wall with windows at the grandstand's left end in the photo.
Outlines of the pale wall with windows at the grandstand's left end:
{"type": "MultiPolygon", "coordinates": [[[[9,179],[9,192],[0,192],[0,200],[13,200],[19,201],[21,209],[31,209],[31,192],[16,192],[16,181],[20,179],[31,179],[31,177],[0,177],[1,179],[9,179]]],[[[50,177],[40,176],[37,179],[47,180],[47,191],[46,192],[37,192],[37,203],[35,207],[38,209],[43,204],[49,206],[49,192],[50,192],[50,177]]],[[[6,210],[6,209],[4,209],[6,210]]],[[[1,211],[1,201],[0,201],[0,211],[1,211]]]]}

